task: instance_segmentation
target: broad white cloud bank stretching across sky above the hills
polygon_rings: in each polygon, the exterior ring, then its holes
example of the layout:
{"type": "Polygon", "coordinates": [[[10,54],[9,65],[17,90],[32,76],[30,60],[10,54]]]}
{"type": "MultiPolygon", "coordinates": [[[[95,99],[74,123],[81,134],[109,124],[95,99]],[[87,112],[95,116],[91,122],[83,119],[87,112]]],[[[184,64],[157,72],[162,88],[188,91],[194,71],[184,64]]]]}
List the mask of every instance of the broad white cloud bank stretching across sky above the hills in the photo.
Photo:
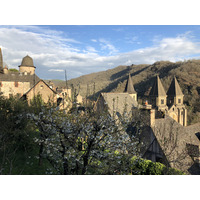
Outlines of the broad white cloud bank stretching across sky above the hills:
{"type": "Polygon", "coordinates": [[[85,49],[83,51],[77,45],[83,43],[64,37],[60,31],[37,26],[0,26],[0,47],[8,67],[17,68],[22,58],[28,54],[34,60],[37,75],[45,79],[64,79],[61,73],[52,72],[63,72],[65,69],[68,78],[74,78],[123,64],[178,61],[200,54],[199,43],[195,43],[189,33],[174,38],[157,38],[152,46],[126,53],[120,53],[113,44],[103,38],[99,42],[107,55],[100,55],[100,51],[89,45],[82,47],[85,49]]]}

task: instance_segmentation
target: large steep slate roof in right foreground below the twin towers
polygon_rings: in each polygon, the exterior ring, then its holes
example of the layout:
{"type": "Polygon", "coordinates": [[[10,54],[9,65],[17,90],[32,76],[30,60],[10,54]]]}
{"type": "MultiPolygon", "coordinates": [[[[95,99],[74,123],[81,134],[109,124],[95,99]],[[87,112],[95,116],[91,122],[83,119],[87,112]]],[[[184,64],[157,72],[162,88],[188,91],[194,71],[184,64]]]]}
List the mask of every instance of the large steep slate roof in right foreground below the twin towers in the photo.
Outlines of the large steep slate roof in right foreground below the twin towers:
{"type": "Polygon", "coordinates": [[[194,164],[192,154],[195,153],[197,157],[199,155],[199,139],[195,135],[197,132],[200,132],[200,123],[184,127],[169,116],[156,119],[153,128],[153,133],[167,160],[172,162],[173,167],[191,174],[194,173],[190,169],[194,164]]]}

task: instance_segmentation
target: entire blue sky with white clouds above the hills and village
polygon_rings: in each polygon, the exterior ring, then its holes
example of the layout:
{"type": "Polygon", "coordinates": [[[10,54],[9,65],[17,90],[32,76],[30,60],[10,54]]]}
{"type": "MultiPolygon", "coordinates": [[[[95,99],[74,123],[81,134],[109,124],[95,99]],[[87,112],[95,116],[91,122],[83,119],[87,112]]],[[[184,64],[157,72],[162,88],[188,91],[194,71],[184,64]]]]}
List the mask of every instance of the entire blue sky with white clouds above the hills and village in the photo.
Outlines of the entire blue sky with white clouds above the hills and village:
{"type": "Polygon", "coordinates": [[[27,54],[43,79],[68,78],[119,65],[200,59],[200,26],[0,26],[4,63],[18,68],[27,54]]]}

